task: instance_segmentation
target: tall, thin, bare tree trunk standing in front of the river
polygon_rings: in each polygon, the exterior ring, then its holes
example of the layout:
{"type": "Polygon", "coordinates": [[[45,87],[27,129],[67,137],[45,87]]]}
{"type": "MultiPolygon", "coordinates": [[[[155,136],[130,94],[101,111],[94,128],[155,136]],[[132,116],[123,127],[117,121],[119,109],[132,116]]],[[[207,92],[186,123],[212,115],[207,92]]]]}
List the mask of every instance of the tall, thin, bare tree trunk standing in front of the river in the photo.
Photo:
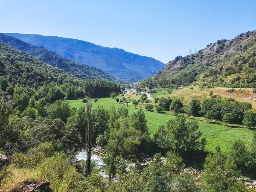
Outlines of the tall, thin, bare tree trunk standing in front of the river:
{"type": "Polygon", "coordinates": [[[92,103],[90,98],[87,101],[87,174],[90,175],[90,166],[91,166],[91,137],[92,137],[92,103]]]}

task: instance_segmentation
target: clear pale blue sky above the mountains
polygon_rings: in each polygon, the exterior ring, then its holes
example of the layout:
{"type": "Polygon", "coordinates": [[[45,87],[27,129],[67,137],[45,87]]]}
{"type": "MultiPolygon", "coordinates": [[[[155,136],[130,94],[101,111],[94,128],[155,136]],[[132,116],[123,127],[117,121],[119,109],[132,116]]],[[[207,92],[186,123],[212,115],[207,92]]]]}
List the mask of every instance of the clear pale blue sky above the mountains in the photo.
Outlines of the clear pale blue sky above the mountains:
{"type": "Polygon", "coordinates": [[[256,30],[256,0],[0,0],[0,32],[53,35],[164,63],[256,30]]]}

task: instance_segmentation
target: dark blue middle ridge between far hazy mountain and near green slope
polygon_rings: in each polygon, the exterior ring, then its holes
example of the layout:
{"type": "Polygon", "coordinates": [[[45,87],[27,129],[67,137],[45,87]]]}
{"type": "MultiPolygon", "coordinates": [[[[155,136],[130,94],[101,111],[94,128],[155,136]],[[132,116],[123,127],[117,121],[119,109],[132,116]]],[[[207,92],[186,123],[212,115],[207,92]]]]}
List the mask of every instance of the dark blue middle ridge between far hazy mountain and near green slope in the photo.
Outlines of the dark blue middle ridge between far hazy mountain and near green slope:
{"type": "Polygon", "coordinates": [[[118,81],[116,78],[110,76],[108,73],[103,72],[99,68],[90,67],[85,64],[79,64],[76,61],[67,59],[61,55],[45,49],[44,47],[36,47],[21,41],[18,38],[14,38],[9,35],[4,35],[0,33],[0,41],[5,44],[11,45],[13,48],[26,52],[29,55],[37,57],[39,60],[66,72],[79,77],[81,79],[100,79],[106,81],[118,81]]]}

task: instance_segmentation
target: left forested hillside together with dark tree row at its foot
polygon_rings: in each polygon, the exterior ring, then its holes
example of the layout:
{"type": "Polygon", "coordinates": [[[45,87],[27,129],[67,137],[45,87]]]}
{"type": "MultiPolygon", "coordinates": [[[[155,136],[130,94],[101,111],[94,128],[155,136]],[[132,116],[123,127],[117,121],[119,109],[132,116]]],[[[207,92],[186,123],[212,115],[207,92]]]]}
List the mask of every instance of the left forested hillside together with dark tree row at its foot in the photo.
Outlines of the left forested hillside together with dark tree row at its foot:
{"type": "Polygon", "coordinates": [[[120,91],[119,84],[93,79],[81,80],[25,52],[17,51],[1,41],[0,87],[9,95],[15,92],[15,87],[20,87],[18,94],[25,93],[27,90],[28,95],[31,96],[32,93],[37,92],[38,98],[43,98],[48,93],[52,93],[56,94],[57,99],[78,99],[84,96],[104,97],[109,96],[113,91],[117,93],[120,91]]]}

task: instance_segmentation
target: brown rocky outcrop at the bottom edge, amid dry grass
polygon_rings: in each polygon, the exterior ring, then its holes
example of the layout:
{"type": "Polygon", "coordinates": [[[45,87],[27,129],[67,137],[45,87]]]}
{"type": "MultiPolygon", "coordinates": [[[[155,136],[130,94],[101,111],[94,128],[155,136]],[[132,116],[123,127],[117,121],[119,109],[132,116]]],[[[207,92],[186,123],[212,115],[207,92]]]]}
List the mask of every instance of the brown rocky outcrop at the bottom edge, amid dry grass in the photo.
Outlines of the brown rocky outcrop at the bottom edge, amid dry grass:
{"type": "Polygon", "coordinates": [[[52,192],[49,181],[24,181],[12,192],[52,192]]]}

